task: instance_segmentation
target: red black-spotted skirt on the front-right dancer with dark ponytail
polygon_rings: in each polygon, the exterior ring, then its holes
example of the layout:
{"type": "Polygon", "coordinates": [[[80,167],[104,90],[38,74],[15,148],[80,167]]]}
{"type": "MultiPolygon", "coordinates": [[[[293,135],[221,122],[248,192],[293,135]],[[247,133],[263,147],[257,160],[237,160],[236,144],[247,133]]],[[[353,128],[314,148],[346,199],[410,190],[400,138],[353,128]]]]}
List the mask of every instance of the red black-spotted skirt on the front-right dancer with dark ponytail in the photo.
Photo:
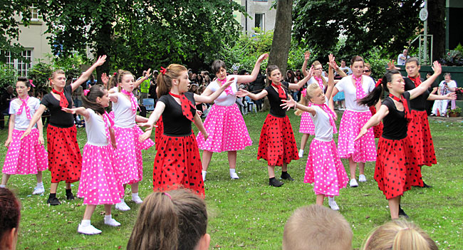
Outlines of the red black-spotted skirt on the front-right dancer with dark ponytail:
{"type": "Polygon", "coordinates": [[[410,163],[412,154],[407,138],[389,140],[380,137],[375,180],[386,199],[400,196],[412,186],[422,187],[420,167],[410,163]]]}

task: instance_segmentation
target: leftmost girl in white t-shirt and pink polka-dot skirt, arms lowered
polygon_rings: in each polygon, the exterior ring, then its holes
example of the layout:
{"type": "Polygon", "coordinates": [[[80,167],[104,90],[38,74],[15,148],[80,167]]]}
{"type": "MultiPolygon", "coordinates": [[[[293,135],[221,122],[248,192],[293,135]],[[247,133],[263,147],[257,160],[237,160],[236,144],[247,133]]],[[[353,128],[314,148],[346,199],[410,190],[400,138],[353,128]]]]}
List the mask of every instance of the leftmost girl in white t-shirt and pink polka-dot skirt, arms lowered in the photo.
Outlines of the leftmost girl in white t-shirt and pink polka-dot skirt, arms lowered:
{"type": "Polygon", "coordinates": [[[8,139],[3,177],[0,187],[5,187],[11,175],[36,175],[37,185],[32,194],[43,194],[42,171],[48,168],[47,154],[43,147],[43,125],[39,119],[31,134],[21,140],[29,122],[40,107],[40,100],[28,95],[31,82],[27,78],[18,78],[16,93],[18,98],[11,100],[8,139]]]}

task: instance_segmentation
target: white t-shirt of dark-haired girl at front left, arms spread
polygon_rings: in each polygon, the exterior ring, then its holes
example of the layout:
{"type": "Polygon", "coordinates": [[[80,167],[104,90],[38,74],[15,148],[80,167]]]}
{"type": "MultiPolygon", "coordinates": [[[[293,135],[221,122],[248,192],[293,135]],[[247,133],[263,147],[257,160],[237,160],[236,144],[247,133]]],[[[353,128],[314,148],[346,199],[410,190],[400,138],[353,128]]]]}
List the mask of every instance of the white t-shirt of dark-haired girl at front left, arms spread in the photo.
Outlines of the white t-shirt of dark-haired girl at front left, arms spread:
{"type": "Polygon", "coordinates": [[[106,136],[105,121],[96,114],[91,108],[86,109],[90,117],[85,118],[85,131],[87,132],[87,144],[95,146],[108,145],[108,137],[106,136]]]}

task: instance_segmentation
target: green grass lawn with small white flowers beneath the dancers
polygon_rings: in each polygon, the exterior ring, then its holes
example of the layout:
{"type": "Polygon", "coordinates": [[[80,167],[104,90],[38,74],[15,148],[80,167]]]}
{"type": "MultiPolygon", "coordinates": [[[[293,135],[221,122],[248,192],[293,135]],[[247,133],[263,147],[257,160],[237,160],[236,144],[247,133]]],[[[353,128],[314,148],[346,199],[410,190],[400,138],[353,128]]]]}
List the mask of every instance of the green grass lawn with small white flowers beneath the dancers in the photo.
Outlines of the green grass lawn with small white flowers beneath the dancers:
{"type": "MultiPolygon", "coordinates": [[[[206,202],[209,211],[208,232],[212,236],[210,249],[281,249],[283,226],[292,212],[301,206],[314,204],[313,186],[303,183],[307,152],[302,160],[291,162],[288,172],[294,182],[283,187],[269,187],[266,162],[256,160],[261,126],[267,113],[246,115],[253,145],[239,152],[237,170],[241,179],[229,179],[227,153],[215,153],[207,173],[206,202]]],[[[288,112],[299,145],[300,118],[288,112]]],[[[339,116],[340,117],[340,116],[339,116]]],[[[456,118],[430,120],[438,163],[423,167],[422,175],[431,189],[413,188],[402,198],[402,208],[410,219],[437,242],[439,249],[463,248],[463,122],[456,118]],[[453,120],[452,120],[453,119],[453,120]]],[[[0,141],[6,140],[7,131],[0,130],[0,141]]],[[[154,135],[153,135],[154,138],[154,135]]],[[[309,139],[308,146],[310,144],[309,139]]],[[[78,129],[78,143],[85,145],[85,128],[78,129]]],[[[335,138],[337,142],[337,137],[335,138]]],[[[1,147],[4,160],[6,148],[1,147]]],[[[152,192],[152,164],[154,147],[143,152],[144,179],[140,184],[142,199],[152,192]]],[[[348,162],[343,160],[348,170],[348,162]]],[[[358,188],[346,188],[336,198],[340,213],[350,223],[353,249],[360,249],[365,236],[390,219],[387,200],[373,180],[374,162],[365,167],[368,182],[358,188]]],[[[279,177],[281,169],[276,168],[279,177]]],[[[139,205],[128,202],[132,210],[113,211],[113,217],[122,224],[118,228],[105,226],[103,206],[98,206],[92,224],[103,231],[100,235],[84,236],[77,233],[85,205],[82,199],[66,202],[64,183],[58,186],[62,204],[46,204],[50,187],[50,172],[43,172],[46,194],[32,196],[36,179],[33,175],[12,176],[7,185],[21,199],[21,229],[17,249],[125,249],[139,205]]],[[[76,194],[78,182],[73,184],[76,194]]],[[[125,199],[130,200],[130,189],[125,199]]],[[[326,202],[326,206],[328,206],[326,202]]]]}

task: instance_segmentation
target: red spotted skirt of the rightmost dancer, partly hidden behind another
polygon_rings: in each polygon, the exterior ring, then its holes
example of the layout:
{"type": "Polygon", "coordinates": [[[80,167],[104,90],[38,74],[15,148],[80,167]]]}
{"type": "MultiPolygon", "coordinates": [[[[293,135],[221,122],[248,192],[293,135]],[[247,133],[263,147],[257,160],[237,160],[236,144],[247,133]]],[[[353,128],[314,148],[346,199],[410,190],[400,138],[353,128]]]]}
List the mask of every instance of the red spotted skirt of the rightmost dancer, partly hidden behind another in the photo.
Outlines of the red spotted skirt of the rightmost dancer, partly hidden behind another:
{"type": "Polygon", "coordinates": [[[407,135],[409,143],[415,151],[413,153],[417,155],[416,160],[412,159],[414,164],[432,166],[437,163],[430,123],[427,120],[425,110],[412,110],[412,120],[408,123],[407,135]]]}

